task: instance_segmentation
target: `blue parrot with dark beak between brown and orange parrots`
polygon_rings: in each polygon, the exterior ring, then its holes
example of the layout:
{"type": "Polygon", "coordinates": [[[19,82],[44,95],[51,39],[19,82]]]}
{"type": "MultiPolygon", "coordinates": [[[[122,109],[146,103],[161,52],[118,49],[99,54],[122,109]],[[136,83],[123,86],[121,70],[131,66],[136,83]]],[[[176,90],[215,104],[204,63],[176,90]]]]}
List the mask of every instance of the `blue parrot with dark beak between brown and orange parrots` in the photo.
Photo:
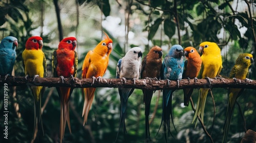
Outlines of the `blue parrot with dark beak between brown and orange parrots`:
{"type": "MultiPolygon", "coordinates": [[[[181,45],[173,45],[168,54],[164,57],[160,79],[167,80],[169,83],[169,80],[177,80],[178,86],[179,86],[179,80],[182,79],[182,73],[184,68],[184,61],[183,61],[183,48],[181,45]]],[[[164,126],[164,137],[166,139],[166,126],[168,129],[168,135],[170,133],[170,117],[173,122],[173,113],[172,113],[172,94],[175,90],[163,90],[163,112],[162,112],[162,121],[160,124],[163,123],[164,126]]],[[[174,125],[174,122],[173,122],[174,125]]],[[[159,128],[159,130],[160,130],[159,128]]],[[[174,126],[175,128],[175,126],[174,126]]],[[[175,129],[176,130],[176,129],[175,129]]],[[[158,131],[159,132],[159,131],[158,131]]]]}

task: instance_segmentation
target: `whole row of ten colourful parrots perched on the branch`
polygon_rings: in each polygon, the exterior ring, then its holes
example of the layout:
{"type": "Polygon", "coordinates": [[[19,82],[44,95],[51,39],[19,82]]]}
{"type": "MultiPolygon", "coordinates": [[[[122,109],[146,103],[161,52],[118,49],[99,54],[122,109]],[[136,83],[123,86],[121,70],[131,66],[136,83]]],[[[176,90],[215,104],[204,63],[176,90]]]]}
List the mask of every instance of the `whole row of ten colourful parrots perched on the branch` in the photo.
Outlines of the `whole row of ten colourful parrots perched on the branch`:
{"type": "MultiPolygon", "coordinates": [[[[106,68],[109,63],[109,56],[112,51],[112,39],[104,33],[103,40],[98,43],[94,50],[89,51],[84,58],[82,64],[82,78],[93,78],[95,80],[102,81],[106,68]]],[[[78,57],[75,52],[76,38],[67,37],[60,41],[58,49],[53,52],[52,67],[53,77],[60,77],[61,81],[65,78],[76,77],[78,57]]],[[[11,76],[13,65],[16,59],[15,49],[18,46],[17,38],[8,36],[5,37],[0,44],[0,76],[11,76]]],[[[27,77],[46,77],[46,58],[42,52],[42,38],[39,36],[30,37],[26,42],[26,48],[22,54],[23,65],[27,77]]],[[[194,47],[186,47],[183,50],[181,45],[173,45],[169,52],[166,54],[162,61],[162,49],[159,46],[153,46],[152,49],[144,56],[142,62],[142,50],[140,47],[133,47],[130,49],[122,59],[119,59],[116,67],[116,78],[122,79],[126,82],[126,79],[132,79],[135,84],[135,80],[150,79],[150,80],[176,80],[179,85],[181,79],[197,79],[206,78],[210,82],[210,78],[216,78],[220,76],[222,69],[222,57],[221,50],[214,42],[202,42],[199,47],[199,51],[202,53],[200,57],[199,53],[194,47]],[[183,59],[183,56],[186,59],[183,59]]],[[[237,58],[236,64],[233,66],[229,78],[246,79],[248,75],[248,68],[253,62],[251,54],[240,54],[237,58]]],[[[74,80],[74,78],[73,78],[74,80]]],[[[93,84],[92,83],[92,84],[93,84]]],[[[42,86],[30,86],[32,94],[34,96],[34,132],[35,128],[42,127],[41,118],[41,98],[44,94],[45,87],[42,86]]],[[[66,123],[71,133],[71,125],[69,119],[69,99],[71,97],[72,87],[56,87],[59,99],[60,99],[60,142],[62,142],[65,134],[66,123]]],[[[87,123],[88,113],[92,106],[94,99],[94,92],[96,88],[82,88],[84,95],[84,105],[82,116],[84,116],[84,122],[87,123]]],[[[184,90],[184,105],[188,106],[192,89],[184,90]]],[[[204,107],[206,102],[206,96],[209,88],[201,88],[198,97],[197,108],[193,122],[197,117],[200,117],[203,122],[204,107]]],[[[237,98],[241,95],[244,89],[229,88],[228,94],[228,109],[226,121],[224,124],[224,137],[223,142],[227,141],[227,135],[229,131],[229,125],[231,116],[234,110],[234,104],[237,98]]],[[[123,124],[123,131],[125,129],[125,114],[128,98],[131,96],[134,88],[118,88],[121,109],[120,109],[120,125],[123,124]]],[[[150,104],[154,93],[154,90],[143,89],[143,101],[145,103],[145,141],[152,141],[150,136],[150,126],[148,123],[148,115],[150,115],[150,104]]],[[[166,139],[166,131],[170,133],[170,120],[173,122],[172,114],[172,94],[175,90],[163,89],[162,100],[162,121],[164,127],[164,136],[166,139]],[[167,128],[167,129],[166,129],[167,128]]],[[[174,124],[174,123],[173,123],[174,124]]],[[[160,125],[160,127],[161,127],[160,125]]],[[[174,126],[175,128],[175,126],[174,126]]],[[[160,129],[160,128],[159,128],[160,129]]],[[[119,132],[118,130],[118,132],[119,132]]],[[[176,130],[176,129],[175,129],[176,130]]],[[[34,136],[33,136],[34,137],[34,136]]],[[[118,133],[117,133],[118,137],[118,133]]]]}

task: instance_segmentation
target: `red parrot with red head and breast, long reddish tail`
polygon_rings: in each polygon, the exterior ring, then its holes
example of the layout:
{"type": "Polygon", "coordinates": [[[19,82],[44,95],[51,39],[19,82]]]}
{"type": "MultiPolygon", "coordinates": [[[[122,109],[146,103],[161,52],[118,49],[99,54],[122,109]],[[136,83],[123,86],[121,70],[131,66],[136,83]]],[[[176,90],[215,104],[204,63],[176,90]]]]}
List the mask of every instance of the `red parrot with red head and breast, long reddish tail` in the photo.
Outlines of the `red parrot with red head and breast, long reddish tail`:
{"type": "MultiPolygon", "coordinates": [[[[76,38],[67,37],[59,42],[58,49],[53,52],[52,67],[53,76],[60,77],[63,83],[65,78],[76,77],[77,74],[77,53],[76,38]]],[[[74,78],[73,78],[74,80],[74,78]]],[[[68,122],[69,131],[71,133],[70,120],[69,120],[69,99],[74,88],[70,87],[56,87],[60,99],[60,142],[65,134],[66,123],[68,122]]]]}

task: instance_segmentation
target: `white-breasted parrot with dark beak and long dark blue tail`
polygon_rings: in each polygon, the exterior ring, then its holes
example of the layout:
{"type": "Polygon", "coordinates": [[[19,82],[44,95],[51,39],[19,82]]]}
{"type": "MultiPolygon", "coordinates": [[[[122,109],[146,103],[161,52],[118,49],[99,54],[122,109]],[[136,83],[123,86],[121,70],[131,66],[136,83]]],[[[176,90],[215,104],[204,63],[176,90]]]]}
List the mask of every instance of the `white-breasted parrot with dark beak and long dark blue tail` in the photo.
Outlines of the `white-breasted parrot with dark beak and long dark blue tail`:
{"type": "MultiPolygon", "coordinates": [[[[141,57],[142,52],[140,47],[133,47],[130,49],[122,59],[118,60],[116,67],[116,79],[123,79],[124,83],[126,83],[126,79],[132,79],[135,84],[135,80],[139,79],[141,72],[141,57]]],[[[125,128],[125,113],[126,107],[128,103],[128,98],[133,93],[134,88],[118,88],[120,101],[121,101],[121,110],[120,110],[120,123],[118,133],[123,124],[124,134],[126,133],[125,128]]],[[[116,138],[117,139],[117,138],[116,138]]]]}

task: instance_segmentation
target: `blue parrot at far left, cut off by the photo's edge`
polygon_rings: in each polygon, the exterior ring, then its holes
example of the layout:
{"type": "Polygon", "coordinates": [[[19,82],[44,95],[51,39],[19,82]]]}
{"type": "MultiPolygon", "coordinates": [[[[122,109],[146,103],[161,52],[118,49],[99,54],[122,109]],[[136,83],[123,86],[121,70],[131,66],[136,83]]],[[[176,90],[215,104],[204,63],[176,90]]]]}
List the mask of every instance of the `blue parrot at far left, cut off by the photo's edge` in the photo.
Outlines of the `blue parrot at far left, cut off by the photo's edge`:
{"type": "Polygon", "coordinates": [[[18,47],[18,40],[15,37],[7,36],[0,43],[0,78],[12,75],[13,65],[16,60],[15,49],[18,47]]]}

